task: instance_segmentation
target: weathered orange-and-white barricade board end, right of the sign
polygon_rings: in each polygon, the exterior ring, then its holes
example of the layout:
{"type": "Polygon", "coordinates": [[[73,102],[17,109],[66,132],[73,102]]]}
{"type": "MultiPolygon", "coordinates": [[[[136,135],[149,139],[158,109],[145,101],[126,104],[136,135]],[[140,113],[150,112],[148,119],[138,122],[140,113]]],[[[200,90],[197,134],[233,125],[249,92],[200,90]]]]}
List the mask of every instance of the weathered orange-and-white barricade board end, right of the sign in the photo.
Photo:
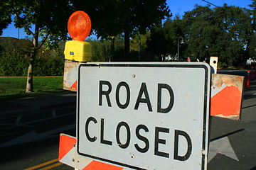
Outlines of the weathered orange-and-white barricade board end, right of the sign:
{"type": "Polygon", "coordinates": [[[210,115],[240,120],[244,77],[212,74],[210,115]]]}

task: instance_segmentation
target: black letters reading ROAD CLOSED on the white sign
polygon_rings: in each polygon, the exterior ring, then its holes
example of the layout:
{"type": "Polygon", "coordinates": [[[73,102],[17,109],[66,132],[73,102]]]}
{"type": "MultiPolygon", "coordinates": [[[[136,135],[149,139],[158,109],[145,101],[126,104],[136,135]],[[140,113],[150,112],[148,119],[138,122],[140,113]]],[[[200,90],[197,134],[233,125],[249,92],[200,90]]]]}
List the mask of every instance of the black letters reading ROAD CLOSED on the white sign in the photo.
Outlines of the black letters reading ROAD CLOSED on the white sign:
{"type": "MultiPolygon", "coordinates": [[[[106,88],[105,88],[106,89],[106,88]]],[[[110,83],[110,81],[100,81],[100,89],[99,89],[99,106],[102,106],[102,96],[105,96],[106,98],[106,103],[107,106],[111,107],[112,106],[112,102],[111,102],[111,98],[110,98],[110,93],[112,92],[112,84],[110,83]],[[103,86],[107,86],[107,90],[103,90],[103,86]]],[[[125,109],[127,108],[127,106],[129,105],[129,101],[130,101],[130,89],[129,89],[129,85],[122,81],[120,82],[116,89],[115,89],[115,101],[117,101],[117,106],[119,106],[119,108],[125,109]],[[127,98],[124,104],[120,103],[119,99],[119,89],[124,86],[127,92],[127,98]]],[[[141,103],[145,103],[148,106],[148,110],[149,112],[152,112],[152,108],[151,108],[151,101],[149,98],[149,93],[148,90],[146,88],[146,83],[142,83],[142,86],[139,89],[139,94],[137,97],[137,102],[134,106],[134,110],[138,110],[139,105],[141,103]],[[143,98],[142,96],[145,96],[145,98],[143,98]]],[[[174,106],[174,92],[171,89],[171,86],[169,86],[168,84],[158,84],[158,88],[157,88],[157,113],[168,113],[169,111],[171,111],[171,108],[174,106]],[[169,105],[166,108],[161,108],[161,89],[167,89],[169,91],[169,105]]],[[[169,153],[168,152],[161,152],[159,151],[159,145],[165,145],[166,144],[166,139],[161,139],[159,137],[160,133],[169,133],[170,130],[169,128],[162,128],[162,127],[155,127],[154,130],[154,142],[149,142],[149,140],[141,135],[139,133],[140,130],[144,130],[144,132],[149,132],[149,128],[146,127],[146,125],[140,124],[137,125],[137,127],[135,128],[135,132],[131,132],[131,129],[129,128],[129,124],[122,121],[119,122],[116,125],[116,129],[115,129],[115,145],[117,145],[119,148],[121,149],[127,149],[127,147],[129,147],[130,145],[130,140],[131,140],[131,135],[134,135],[134,137],[136,136],[138,140],[142,140],[144,142],[144,147],[139,147],[138,144],[134,144],[134,147],[137,149],[138,152],[141,153],[145,153],[149,150],[149,144],[150,143],[154,143],[154,155],[159,156],[159,157],[166,157],[169,158],[169,153]],[[125,137],[125,142],[121,142],[120,141],[120,129],[124,128],[126,131],[127,136],[125,137]]],[[[87,118],[86,122],[85,122],[85,134],[87,137],[87,140],[89,140],[90,142],[97,142],[97,138],[94,135],[90,135],[89,133],[89,129],[90,128],[95,128],[97,130],[100,130],[100,144],[102,145],[114,145],[113,141],[110,140],[106,140],[104,138],[104,133],[105,133],[105,118],[101,118],[100,120],[96,120],[96,118],[94,117],[90,117],[87,118]],[[98,123],[100,122],[100,123],[98,123]],[[100,124],[100,125],[98,125],[100,124]]],[[[180,160],[180,161],[186,161],[186,159],[189,158],[189,156],[191,155],[191,151],[192,151],[192,142],[191,142],[191,138],[189,137],[189,135],[186,132],[183,132],[181,130],[174,130],[174,159],[180,160]],[[178,137],[179,136],[183,136],[186,138],[187,141],[187,152],[186,154],[184,154],[183,156],[178,155],[178,137]]]]}

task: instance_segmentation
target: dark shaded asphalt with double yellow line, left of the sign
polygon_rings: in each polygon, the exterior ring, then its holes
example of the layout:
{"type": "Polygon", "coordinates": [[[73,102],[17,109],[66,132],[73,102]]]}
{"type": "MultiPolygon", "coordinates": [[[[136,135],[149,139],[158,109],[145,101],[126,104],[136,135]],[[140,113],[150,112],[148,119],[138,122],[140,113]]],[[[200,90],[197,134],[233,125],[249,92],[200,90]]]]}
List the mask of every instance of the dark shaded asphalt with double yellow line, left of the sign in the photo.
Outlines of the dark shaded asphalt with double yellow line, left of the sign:
{"type": "Polygon", "coordinates": [[[0,169],[63,169],[59,135],[75,136],[75,100],[64,92],[1,102],[0,169]]]}

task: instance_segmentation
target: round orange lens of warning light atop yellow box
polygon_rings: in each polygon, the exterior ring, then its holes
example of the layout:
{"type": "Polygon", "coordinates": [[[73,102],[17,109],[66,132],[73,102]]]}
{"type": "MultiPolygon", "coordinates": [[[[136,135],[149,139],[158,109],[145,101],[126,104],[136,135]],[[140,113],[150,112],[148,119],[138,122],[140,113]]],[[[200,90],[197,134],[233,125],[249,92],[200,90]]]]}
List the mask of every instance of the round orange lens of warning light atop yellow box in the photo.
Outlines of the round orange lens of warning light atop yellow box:
{"type": "Polygon", "coordinates": [[[73,40],[85,40],[91,28],[90,17],[84,11],[75,11],[68,19],[68,33],[73,40]]]}

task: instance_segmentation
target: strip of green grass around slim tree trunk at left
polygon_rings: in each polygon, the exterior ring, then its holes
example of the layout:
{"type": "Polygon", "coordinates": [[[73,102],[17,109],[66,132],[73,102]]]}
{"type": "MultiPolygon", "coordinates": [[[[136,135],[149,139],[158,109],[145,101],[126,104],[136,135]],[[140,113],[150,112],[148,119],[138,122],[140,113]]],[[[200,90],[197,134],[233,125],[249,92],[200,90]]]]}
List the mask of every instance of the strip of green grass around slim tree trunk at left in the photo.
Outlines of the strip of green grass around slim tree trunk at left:
{"type": "Polygon", "coordinates": [[[33,77],[32,93],[26,91],[26,77],[0,78],[0,101],[63,91],[63,77],[33,77]]]}

